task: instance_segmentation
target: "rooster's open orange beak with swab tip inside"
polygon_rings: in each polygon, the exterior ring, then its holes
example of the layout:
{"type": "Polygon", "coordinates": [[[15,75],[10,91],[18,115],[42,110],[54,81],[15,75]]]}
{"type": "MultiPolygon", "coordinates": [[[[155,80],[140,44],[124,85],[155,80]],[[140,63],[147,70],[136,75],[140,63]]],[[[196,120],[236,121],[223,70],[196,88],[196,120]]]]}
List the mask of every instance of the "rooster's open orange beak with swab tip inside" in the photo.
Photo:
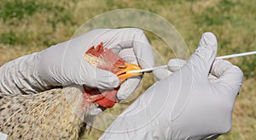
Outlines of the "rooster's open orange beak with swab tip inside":
{"type": "Polygon", "coordinates": [[[127,71],[130,71],[130,70],[142,70],[142,68],[137,64],[125,63],[125,65],[120,65],[119,69],[120,71],[115,74],[119,77],[119,80],[121,82],[125,81],[128,78],[142,75],[142,73],[126,73],[127,71]]]}

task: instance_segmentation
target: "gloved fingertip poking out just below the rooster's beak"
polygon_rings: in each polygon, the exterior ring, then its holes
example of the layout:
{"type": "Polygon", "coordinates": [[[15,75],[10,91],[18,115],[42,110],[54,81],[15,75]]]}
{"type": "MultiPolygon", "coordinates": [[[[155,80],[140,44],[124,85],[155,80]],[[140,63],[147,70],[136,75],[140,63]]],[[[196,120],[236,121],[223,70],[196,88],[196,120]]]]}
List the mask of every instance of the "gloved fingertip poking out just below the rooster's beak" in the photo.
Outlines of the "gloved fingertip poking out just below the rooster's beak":
{"type": "Polygon", "coordinates": [[[131,93],[138,87],[140,81],[141,77],[139,76],[127,79],[124,83],[121,84],[119,91],[117,92],[117,98],[119,100],[128,98],[131,93]]]}

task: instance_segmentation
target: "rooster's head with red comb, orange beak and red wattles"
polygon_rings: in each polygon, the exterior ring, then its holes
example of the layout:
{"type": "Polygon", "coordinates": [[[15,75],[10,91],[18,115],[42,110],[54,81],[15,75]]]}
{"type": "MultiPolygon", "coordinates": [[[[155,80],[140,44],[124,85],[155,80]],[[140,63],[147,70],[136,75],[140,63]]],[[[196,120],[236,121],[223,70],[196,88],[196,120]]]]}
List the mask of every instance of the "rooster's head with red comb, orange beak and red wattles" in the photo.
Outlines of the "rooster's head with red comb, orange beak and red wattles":
{"type": "MultiPolygon", "coordinates": [[[[102,42],[96,48],[94,46],[90,47],[84,54],[84,59],[97,68],[113,72],[121,82],[130,77],[142,75],[141,73],[126,73],[130,70],[141,70],[141,67],[136,64],[126,63],[111,49],[103,48],[102,42]]],[[[119,102],[116,97],[118,90],[119,87],[116,87],[113,90],[101,92],[97,88],[84,86],[84,104],[89,100],[90,103],[96,102],[99,104],[102,109],[111,108],[115,103],[119,102]]]]}

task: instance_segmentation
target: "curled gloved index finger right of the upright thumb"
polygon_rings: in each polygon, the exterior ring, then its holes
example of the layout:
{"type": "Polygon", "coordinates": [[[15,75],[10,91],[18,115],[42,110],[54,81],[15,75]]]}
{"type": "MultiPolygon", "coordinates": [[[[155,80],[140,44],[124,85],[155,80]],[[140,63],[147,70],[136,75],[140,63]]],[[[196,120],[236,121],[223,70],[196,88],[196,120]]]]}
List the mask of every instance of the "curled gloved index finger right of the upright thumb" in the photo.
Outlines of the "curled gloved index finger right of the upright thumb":
{"type": "Polygon", "coordinates": [[[226,60],[215,60],[211,73],[218,77],[212,83],[218,89],[234,93],[234,95],[240,91],[243,73],[236,65],[230,64],[226,60]]]}

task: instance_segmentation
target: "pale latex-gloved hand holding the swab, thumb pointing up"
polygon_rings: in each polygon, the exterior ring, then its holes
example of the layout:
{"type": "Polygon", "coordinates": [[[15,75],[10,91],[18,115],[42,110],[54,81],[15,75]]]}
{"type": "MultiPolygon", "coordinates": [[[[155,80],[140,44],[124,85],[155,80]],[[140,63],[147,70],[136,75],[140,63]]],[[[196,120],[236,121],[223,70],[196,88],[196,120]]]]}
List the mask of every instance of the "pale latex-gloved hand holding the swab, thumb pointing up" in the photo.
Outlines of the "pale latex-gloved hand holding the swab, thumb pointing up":
{"type": "Polygon", "coordinates": [[[198,140],[229,132],[243,74],[227,61],[214,61],[216,53],[216,37],[203,34],[189,61],[149,87],[100,139],[198,140]],[[216,80],[209,81],[210,71],[216,80]]]}

